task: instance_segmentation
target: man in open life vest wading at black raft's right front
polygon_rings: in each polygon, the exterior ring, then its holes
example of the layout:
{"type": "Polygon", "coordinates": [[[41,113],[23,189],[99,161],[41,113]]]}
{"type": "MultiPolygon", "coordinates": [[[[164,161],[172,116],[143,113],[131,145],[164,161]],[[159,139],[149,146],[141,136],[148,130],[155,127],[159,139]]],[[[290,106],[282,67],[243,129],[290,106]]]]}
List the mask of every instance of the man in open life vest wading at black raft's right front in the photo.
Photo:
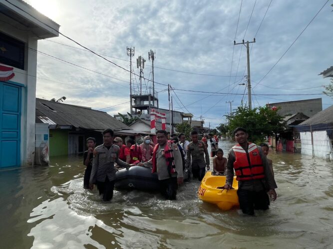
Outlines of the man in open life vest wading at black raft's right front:
{"type": "Polygon", "coordinates": [[[167,140],[167,132],[156,132],[157,144],[154,147],[153,157],[140,166],[152,168],[157,172],[161,194],[167,200],[175,200],[178,184],[183,183],[183,162],[178,145],[167,140]]]}

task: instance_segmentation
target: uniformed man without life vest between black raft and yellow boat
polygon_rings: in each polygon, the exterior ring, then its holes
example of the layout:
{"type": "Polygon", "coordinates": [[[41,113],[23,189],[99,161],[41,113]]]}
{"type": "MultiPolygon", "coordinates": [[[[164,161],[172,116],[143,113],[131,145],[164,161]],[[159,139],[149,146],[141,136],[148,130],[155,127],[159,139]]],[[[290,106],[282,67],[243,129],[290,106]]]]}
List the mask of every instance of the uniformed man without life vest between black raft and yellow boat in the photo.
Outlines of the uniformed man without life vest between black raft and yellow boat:
{"type": "Polygon", "coordinates": [[[209,170],[209,154],[207,147],[203,141],[198,141],[198,132],[191,132],[192,142],[187,146],[185,168],[191,164],[192,156],[192,173],[193,178],[198,178],[199,181],[205,176],[206,167],[209,170]]]}

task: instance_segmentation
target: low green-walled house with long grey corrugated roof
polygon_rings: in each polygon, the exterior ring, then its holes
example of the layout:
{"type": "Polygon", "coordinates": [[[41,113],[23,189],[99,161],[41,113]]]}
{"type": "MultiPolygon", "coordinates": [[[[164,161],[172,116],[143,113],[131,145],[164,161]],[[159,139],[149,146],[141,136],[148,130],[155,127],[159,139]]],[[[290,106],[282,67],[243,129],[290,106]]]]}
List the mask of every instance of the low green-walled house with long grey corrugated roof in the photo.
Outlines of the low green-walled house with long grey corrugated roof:
{"type": "MultiPolygon", "coordinates": [[[[102,131],[107,128],[113,129],[115,135],[123,139],[127,136],[145,134],[105,112],[43,99],[36,99],[36,127],[37,125],[46,125],[48,128],[48,132],[43,129],[38,137],[41,137],[41,143],[48,143],[49,156],[83,153],[88,137],[94,137],[96,144],[102,144],[102,131]],[[42,140],[43,138],[45,140],[42,140]]],[[[40,145],[39,141],[38,144],[40,145]]],[[[40,149],[41,147],[36,146],[36,156],[40,154],[40,149]]],[[[39,158],[35,160],[38,162],[39,158]]]]}

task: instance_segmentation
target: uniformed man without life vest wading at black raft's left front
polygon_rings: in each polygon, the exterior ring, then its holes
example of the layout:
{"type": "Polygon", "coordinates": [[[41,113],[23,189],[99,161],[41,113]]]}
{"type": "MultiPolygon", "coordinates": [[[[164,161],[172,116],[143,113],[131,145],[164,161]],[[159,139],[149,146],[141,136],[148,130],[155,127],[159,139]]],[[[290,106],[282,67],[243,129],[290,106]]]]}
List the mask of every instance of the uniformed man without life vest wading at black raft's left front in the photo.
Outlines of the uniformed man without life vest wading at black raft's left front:
{"type": "Polygon", "coordinates": [[[92,160],[89,187],[93,189],[94,184],[96,184],[103,201],[110,201],[113,196],[114,180],[116,178],[114,163],[116,162],[122,167],[131,166],[119,159],[120,149],[113,144],[113,136],[112,129],[103,131],[104,143],[95,148],[92,160]]]}

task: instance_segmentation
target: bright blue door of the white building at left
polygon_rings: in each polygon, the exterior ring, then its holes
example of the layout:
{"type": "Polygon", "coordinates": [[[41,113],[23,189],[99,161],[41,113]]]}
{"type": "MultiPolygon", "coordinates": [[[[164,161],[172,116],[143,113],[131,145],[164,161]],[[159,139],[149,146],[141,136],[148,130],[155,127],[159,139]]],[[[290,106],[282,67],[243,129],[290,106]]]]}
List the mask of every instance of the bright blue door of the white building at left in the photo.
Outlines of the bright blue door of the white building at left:
{"type": "Polygon", "coordinates": [[[0,82],[0,168],[20,164],[21,88],[0,82]]]}

